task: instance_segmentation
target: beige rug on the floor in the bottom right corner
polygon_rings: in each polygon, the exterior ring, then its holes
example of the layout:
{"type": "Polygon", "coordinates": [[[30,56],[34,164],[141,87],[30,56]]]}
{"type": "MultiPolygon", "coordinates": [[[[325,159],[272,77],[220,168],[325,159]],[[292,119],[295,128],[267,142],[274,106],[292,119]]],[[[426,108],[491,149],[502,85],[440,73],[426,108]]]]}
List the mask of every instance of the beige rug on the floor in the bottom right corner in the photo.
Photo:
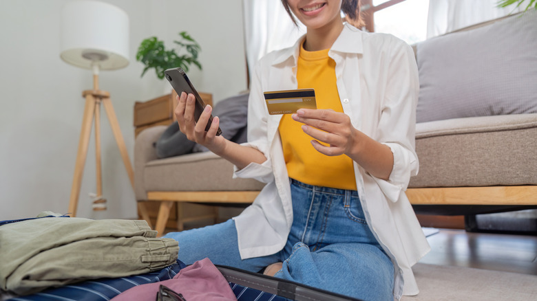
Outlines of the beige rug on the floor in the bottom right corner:
{"type": "Polygon", "coordinates": [[[420,293],[403,301],[537,300],[537,276],[425,263],[412,269],[420,293]]]}

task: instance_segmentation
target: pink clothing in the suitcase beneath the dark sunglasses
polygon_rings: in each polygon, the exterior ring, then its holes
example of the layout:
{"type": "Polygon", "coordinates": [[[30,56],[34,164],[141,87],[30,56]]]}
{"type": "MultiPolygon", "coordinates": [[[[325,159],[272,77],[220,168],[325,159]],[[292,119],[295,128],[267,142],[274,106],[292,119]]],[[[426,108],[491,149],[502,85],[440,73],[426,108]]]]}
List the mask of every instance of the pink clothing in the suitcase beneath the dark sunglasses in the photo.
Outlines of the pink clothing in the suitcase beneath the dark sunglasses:
{"type": "Polygon", "coordinates": [[[154,301],[160,285],[182,294],[187,301],[236,301],[235,294],[226,278],[211,263],[209,258],[196,261],[181,269],[172,279],[139,285],[120,293],[113,301],[151,300],[154,301]]]}

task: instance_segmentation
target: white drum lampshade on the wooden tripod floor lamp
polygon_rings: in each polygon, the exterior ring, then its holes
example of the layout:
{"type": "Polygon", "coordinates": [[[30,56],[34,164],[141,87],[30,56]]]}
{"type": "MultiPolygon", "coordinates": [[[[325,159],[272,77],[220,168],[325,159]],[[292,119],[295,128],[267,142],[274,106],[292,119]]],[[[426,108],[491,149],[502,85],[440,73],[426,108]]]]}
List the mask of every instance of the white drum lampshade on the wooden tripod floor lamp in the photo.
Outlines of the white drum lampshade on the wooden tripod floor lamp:
{"type": "Polygon", "coordinates": [[[61,17],[61,53],[77,67],[112,70],[129,65],[129,16],[99,1],[72,1],[61,17]]]}

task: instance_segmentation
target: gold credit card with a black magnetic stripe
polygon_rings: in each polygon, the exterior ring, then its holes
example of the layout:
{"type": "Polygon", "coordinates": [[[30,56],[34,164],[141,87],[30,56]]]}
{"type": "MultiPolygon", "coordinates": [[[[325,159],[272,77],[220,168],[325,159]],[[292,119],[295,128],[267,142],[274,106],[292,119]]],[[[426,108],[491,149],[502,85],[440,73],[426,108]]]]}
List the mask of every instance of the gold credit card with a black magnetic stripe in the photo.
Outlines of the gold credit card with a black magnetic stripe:
{"type": "Polygon", "coordinates": [[[314,89],[267,91],[264,96],[271,115],[293,114],[298,109],[317,109],[314,89]]]}

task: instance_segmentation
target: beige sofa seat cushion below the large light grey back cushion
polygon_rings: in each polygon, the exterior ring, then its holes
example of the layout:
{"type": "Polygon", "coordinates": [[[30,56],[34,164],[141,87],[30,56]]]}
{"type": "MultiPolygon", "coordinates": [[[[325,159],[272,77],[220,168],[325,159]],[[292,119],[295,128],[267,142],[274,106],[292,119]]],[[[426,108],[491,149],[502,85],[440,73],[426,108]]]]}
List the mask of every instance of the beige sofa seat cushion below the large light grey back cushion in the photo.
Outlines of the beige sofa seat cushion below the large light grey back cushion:
{"type": "Polygon", "coordinates": [[[537,114],[423,122],[409,188],[537,184],[537,114]]]}

